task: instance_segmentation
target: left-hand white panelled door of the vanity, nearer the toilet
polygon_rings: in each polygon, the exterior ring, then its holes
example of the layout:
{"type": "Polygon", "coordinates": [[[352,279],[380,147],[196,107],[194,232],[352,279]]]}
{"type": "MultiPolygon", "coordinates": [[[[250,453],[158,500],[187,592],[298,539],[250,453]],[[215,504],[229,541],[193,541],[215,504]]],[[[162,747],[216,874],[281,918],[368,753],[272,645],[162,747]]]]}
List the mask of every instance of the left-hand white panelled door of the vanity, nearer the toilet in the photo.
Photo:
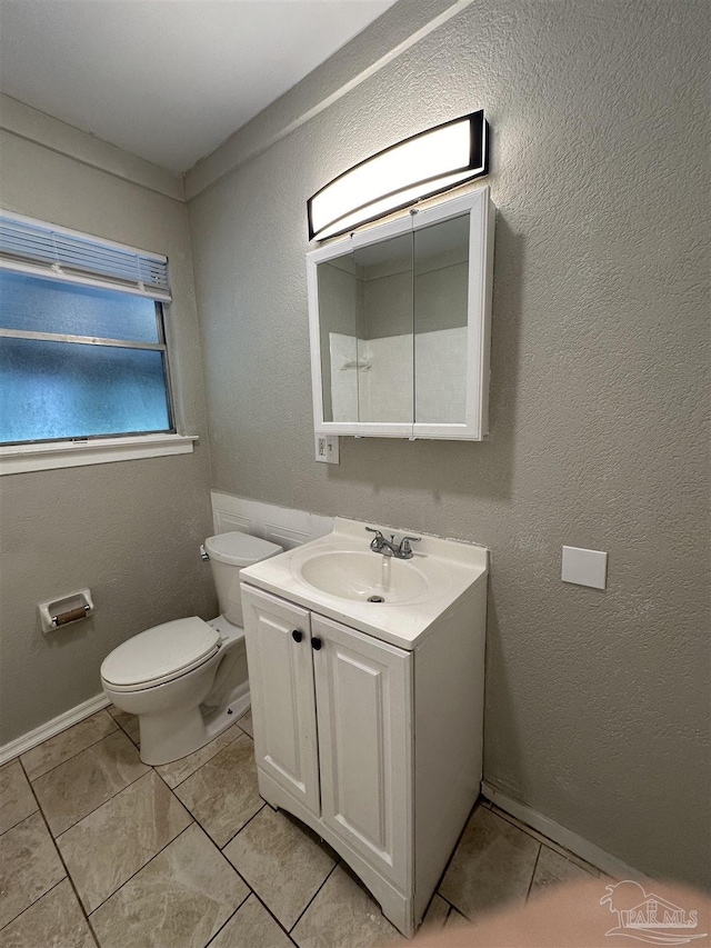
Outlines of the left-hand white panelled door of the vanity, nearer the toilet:
{"type": "Polygon", "coordinates": [[[318,816],[309,612],[248,586],[242,606],[257,765],[318,816]]]}

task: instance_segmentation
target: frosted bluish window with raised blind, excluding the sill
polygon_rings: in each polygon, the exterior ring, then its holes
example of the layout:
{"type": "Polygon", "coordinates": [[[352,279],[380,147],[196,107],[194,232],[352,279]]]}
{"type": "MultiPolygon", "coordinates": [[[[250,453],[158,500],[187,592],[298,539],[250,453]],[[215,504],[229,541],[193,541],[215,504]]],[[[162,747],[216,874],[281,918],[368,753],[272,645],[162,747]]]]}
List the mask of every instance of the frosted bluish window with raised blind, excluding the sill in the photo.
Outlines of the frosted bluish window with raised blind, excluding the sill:
{"type": "Polygon", "coordinates": [[[164,257],[1,214],[0,443],[174,432],[168,301],[164,257]]]}

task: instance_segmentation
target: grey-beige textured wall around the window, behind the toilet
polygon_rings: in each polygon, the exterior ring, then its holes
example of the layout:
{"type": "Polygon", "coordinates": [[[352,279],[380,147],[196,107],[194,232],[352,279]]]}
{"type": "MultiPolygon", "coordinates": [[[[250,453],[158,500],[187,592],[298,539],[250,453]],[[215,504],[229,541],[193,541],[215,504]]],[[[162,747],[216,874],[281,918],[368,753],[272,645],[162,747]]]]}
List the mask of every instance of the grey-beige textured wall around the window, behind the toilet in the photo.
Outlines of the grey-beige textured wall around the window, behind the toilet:
{"type": "Polygon", "coordinates": [[[0,745],[101,691],[99,666],[158,622],[214,616],[202,368],[183,204],[12,134],[0,206],[167,253],[179,413],[192,455],[0,479],[0,745]],[[92,618],[43,636],[37,603],[89,586],[92,618]]]}

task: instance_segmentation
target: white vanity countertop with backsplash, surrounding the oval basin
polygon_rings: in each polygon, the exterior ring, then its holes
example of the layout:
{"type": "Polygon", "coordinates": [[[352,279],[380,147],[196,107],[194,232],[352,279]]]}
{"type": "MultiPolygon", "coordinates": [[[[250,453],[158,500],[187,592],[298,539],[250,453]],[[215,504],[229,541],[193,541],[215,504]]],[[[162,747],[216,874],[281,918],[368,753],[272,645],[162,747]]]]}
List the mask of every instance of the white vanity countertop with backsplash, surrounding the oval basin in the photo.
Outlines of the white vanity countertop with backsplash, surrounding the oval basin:
{"type": "MultiPolygon", "coordinates": [[[[397,530],[421,536],[413,543],[411,562],[430,580],[428,590],[408,602],[367,602],[331,596],[309,585],[300,576],[300,567],[314,556],[329,552],[369,552],[372,539],[365,527],[372,522],[337,517],[332,533],[312,540],[268,560],[240,570],[240,578],[274,596],[280,596],[330,619],[374,636],[402,649],[411,650],[425,638],[432,623],[457,602],[477,581],[485,581],[489,571],[489,550],[485,547],[428,537],[417,530],[397,530]]],[[[381,527],[385,536],[393,528],[381,527]]]]}

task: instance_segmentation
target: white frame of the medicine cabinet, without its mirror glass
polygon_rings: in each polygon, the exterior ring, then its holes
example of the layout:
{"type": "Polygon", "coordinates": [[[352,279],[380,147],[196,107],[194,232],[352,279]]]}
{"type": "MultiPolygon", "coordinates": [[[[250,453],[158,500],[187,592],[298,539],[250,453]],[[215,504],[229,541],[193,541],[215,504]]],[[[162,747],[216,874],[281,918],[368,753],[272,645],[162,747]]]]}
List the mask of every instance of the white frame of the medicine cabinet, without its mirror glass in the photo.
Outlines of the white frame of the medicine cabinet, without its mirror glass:
{"type": "MultiPolygon", "coordinates": [[[[491,295],[493,276],[493,236],[495,208],[489,187],[447,201],[410,211],[405,217],[350,237],[336,240],[307,255],[309,292],[309,328],[311,337],[311,372],[313,389],[313,423],[317,435],[350,435],[354,437],[419,438],[479,441],[488,433],[489,353],[491,327],[491,295]],[[465,405],[461,422],[418,422],[413,396],[412,421],[327,421],[323,410],[324,379],[321,357],[321,318],[319,311],[318,266],[356,250],[371,247],[393,237],[417,232],[433,223],[469,213],[469,272],[467,296],[465,405]]],[[[414,272],[414,271],[413,271],[414,272]]],[[[414,280],[413,280],[414,282],[414,280]]],[[[414,332],[414,296],[413,340],[414,332]]],[[[414,347],[414,342],[413,342],[414,347]]],[[[359,359],[356,370],[359,370],[359,359]]],[[[394,368],[394,367],[393,367],[394,368]]],[[[330,386],[331,380],[327,383],[330,386]]],[[[417,386],[415,360],[412,361],[412,387],[417,386]]]]}

